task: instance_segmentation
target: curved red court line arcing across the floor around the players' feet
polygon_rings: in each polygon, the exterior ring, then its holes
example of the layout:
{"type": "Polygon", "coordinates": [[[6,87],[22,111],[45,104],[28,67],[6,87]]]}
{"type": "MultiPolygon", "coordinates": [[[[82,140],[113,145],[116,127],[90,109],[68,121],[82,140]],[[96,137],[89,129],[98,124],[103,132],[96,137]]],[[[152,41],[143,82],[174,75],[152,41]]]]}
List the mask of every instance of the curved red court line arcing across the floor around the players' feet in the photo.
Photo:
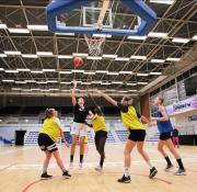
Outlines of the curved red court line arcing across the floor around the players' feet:
{"type": "MultiPolygon", "coordinates": [[[[90,173],[93,173],[93,174],[95,174],[96,172],[89,172],[89,174],[90,173]]],[[[112,174],[112,173],[121,173],[120,171],[118,172],[118,171],[116,171],[116,172],[103,172],[103,173],[106,173],[106,174],[112,174]]],[[[73,173],[72,176],[78,176],[78,174],[81,174],[81,173],[73,173]]],[[[132,174],[134,176],[142,176],[142,177],[146,177],[146,178],[149,178],[149,176],[147,176],[147,174],[142,174],[142,173],[135,173],[135,172],[132,172],[132,174]]],[[[62,178],[61,176],[56,176],[56,177],[53,177],[53,179],[54,178],[62,178]]],[[[50,180],[50,179],[49,179],[50,180]]],[[[42,181],[49,181],[49,180],[42,180],[42,179],[39,179],[39,180],[35,180],[35,181],[33,181],[33,182],[31,182],[31,183],[28,183],[23,190],[22,190],[22,192],[28,192],[28,190],[33,187],[33,185],[35,185],[35,184],[37,184],[37,183],[39,183],[39,182],[42,182],[42,181]]],[[[161,178],[153,178],[153,179],[150,179],[150,180],[158,180],[158,181],[162,181],[162,182],[164,182],[164,183],[166,183],[166,184],[173,184],[171,181],[167,181],[167,180],[165,180],[165,179],[161,179],[161,178]]]]}

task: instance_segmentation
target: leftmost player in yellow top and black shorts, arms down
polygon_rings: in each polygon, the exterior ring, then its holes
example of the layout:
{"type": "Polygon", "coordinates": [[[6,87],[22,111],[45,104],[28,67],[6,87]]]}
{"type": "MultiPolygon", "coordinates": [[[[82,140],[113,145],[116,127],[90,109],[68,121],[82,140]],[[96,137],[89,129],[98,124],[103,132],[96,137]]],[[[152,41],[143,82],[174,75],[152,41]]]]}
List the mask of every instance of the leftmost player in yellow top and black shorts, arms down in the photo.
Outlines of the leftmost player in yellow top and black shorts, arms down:
{"type": "Polygon", "coordinates": [[[38,136],[38,145],[43,151],[45,151],[45,160],[43,165],[43,173],[40,176],[42,179],[50,179],[53,176],[47,173],[48,165],[51,158],[51,155],[55,157],[57,165],[62,171],[62,177],[69,179],[71,176],[66,170],[63,162],[60,158],[56,142],[59,136],[65,142],[65,145],[68,147],[69,145],[66,142],[65,135],[62,133],[61,124],[59,118],[57,117],[58,113],[55,109],[47,109],[45,112],[45,120],[43,127],[39,132],[38,136]]]}

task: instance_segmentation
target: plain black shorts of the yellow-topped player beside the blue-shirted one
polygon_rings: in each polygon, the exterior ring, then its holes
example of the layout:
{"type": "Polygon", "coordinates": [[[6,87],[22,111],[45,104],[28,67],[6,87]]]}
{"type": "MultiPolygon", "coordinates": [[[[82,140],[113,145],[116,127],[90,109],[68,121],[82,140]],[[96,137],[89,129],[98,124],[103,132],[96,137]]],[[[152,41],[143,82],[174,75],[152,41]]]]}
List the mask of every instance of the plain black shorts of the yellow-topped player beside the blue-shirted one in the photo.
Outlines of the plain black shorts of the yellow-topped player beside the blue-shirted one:
{"type": "Polygon", "coordinates": [[[144,142],[146,131],[144,129],[129,129],[128,139],[132,142],[144,142]]]}

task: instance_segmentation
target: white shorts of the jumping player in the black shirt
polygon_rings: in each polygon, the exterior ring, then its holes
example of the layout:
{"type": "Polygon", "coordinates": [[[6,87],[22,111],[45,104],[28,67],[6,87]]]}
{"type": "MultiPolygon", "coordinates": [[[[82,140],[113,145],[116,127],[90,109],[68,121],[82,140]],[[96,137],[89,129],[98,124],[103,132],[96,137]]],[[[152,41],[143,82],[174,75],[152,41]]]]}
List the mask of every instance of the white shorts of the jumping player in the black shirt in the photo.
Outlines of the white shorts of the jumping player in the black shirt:
{"type": "Polygon", "coordinates": [[[86,125],[84,123],[73,122],[70,134],[84,137],[86,135],[86,125]]]}

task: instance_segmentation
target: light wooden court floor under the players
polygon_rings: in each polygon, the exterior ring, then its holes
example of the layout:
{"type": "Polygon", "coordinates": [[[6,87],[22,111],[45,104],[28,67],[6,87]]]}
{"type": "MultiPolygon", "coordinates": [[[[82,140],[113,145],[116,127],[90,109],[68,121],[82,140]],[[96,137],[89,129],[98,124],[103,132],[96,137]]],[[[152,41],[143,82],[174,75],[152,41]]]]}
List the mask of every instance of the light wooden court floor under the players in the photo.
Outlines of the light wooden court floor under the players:
{"type": "MultiPolygon", "coordinates": [[[[69,150],[61,146],[60,153],[66,166],[69,150]]],[[[147,151],[159,170],[155,179],[148,178],[149,168],[135,150],[132,154],[131,183],[123,184],[116,180],[123,176],[124,145],[106,146],[106,162],[102,173],[94,171],[99,156],[93,145],[89,146],[84,169],[78,169],[79,150],[70,180],[62,180],[61,172],[51,160],[49,173],[54,179],[40,181],[39,174],[44,154],[38,147],[0,147],[0,191],[3,192],[196,192],[197,191],[197,147],[182,146],[187,176],[173,176],[163,171],[165,162],[157,151],[155,145],[146,145],[147,151]]],[[[174,161],[173,161],[174,162],[174,161]]],[[[175,167],[176,163],[174,162],[175,167]]]]}

